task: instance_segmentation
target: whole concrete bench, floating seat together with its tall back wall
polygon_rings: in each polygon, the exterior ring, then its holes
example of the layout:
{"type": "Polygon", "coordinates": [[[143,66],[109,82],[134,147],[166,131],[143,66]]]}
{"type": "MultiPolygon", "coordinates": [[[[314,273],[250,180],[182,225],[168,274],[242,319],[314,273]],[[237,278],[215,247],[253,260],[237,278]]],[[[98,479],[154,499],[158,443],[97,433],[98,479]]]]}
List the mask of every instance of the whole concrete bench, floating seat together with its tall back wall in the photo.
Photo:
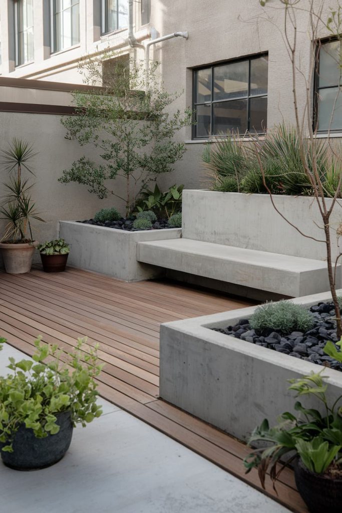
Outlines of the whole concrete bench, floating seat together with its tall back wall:
{"type": "MultiPolygon", "coordinates": [[[[317,242],[323,239],[323,230],[313,198],[273,196],[273,201],[310,238],[281,218],[267,194],[186,190],[182,239],[138,242],[137,261],[192,283],[218,285],[233,293],[248,291],[250,297],[255,291],[256,296],[265,292],[271,298],[329,290],[326,246],[317,242]]],[[[337,206],[332,226],[340,223],[340,211],[337,206]]],[[[331,236],[335,260],[333,230],[331,236]]],[[[336,286],[340,287],[339,266],[336,286]]]]}

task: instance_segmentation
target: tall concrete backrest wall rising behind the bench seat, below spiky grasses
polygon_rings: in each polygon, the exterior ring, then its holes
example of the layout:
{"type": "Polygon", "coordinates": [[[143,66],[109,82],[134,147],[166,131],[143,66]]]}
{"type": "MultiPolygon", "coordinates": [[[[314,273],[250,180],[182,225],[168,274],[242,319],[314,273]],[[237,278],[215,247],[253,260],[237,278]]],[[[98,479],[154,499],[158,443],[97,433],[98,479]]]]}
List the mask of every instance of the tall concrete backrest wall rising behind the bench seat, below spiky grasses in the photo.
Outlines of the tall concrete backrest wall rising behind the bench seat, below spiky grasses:
{"type": "MultiPolygon", "coordinates": [[[[303,233],[324,239],[318,206],[308,196],[273,196],[278,210],[303,233]]],[[[331,200],[326,199],[327,205],[331,200]]],[[[339,200],[342,205],[342,200],[339,200]]],[[[335,205],[330,225],[333,259],[336,229],[341,222],[335,205]]],[[[185,190],[183,232],[186,239],[326,260],[326,245],[305,238],[275,211],[268,194],[185,190]]]]}

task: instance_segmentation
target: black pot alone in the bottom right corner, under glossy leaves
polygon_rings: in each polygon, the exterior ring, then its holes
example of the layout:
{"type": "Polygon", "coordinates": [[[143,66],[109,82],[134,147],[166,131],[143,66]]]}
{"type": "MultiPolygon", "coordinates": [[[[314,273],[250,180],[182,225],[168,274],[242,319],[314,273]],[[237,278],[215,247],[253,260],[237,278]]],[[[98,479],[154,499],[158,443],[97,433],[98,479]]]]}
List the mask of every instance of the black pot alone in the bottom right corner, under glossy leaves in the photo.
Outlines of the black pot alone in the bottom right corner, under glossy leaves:
{"type": "Polygon", "coordinates": [[[310,513],[342,511],[342,479],[331,479],[310,472],[298,459],[295,465],[295,480],[299,494],[310,513]]]}

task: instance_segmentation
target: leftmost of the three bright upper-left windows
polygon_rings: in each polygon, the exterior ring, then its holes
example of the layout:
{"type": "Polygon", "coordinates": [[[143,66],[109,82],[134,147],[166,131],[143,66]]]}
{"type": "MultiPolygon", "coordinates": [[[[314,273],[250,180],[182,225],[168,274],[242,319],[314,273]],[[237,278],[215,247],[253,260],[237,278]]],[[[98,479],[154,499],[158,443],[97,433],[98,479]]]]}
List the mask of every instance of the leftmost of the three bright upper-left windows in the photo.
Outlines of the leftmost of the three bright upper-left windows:
{"type": "Polygon", "coordinates": [[[17,0],[15,16],[15,64],[33,61],[33,0],[17,0]]]}

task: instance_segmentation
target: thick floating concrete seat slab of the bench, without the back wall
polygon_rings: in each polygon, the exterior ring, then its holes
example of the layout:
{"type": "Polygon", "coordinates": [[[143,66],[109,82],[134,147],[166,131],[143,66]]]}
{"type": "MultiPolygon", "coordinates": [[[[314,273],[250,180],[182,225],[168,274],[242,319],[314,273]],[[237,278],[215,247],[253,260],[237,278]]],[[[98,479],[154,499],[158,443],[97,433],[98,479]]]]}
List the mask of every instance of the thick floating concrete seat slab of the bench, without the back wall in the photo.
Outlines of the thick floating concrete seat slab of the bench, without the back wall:
{"type": "Polygon", "coordinates": [[[139,242],[137,261],[289,297],[329,289],[323,260],[186,238],[139,242]]]}

